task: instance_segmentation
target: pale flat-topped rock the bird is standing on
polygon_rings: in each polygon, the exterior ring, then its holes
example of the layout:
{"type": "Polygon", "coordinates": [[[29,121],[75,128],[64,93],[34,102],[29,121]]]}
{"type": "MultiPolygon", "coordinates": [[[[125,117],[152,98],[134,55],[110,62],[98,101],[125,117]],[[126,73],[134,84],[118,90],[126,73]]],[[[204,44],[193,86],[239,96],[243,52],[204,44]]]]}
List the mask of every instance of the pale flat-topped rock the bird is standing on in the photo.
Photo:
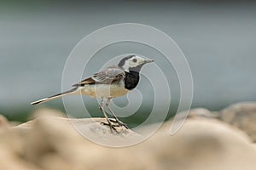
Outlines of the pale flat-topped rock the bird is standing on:
{"type": "MultiPolygon", "coordinates": [[[[125,127],[115,127],[117,130],[114,131],[113,129],[110,129],[110,127],[102,125],[102,122],[106,122],[105,118],[68,119],[64,117],[48,116],[23,123],[14,128],[32,129],[39,126],[40,130],[48,131],[49,127],[51,127],[51,123],[60,125],[61,123],[63,124],[63,122],[65,122],[65,126],[69,129],[76,130],[77,132],[75,133],[90,137],[91,140],[94,140],[95,142],[98,141],[98,143],[103,140],[104,144],[107,145],[125,142],[129,144],[131,143],[131,140],[140,138],[139,134],[134,133],[130,129],[126,129],[125,127]]],[[[66,132],[63,132],[62,129],[58,129],[58,133],[66,132]]]]}

